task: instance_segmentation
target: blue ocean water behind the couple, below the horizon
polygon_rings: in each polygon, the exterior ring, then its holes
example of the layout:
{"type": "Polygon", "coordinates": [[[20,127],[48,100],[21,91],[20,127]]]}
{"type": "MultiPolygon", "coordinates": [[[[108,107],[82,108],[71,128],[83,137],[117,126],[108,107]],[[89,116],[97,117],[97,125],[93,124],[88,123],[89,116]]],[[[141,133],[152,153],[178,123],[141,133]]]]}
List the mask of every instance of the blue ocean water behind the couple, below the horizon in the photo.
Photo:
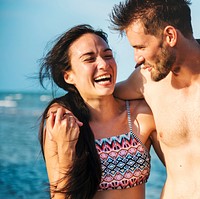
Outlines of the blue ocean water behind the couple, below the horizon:
{"type": "MultiPolygon", "coordinates": [[[[39,118],[50,94],[0,92],[0,199],[48,199],[48,178],[38,140],[39,118]]],[[[146,198],[159,199],[166,173],[151,151],[146,198]]]]}

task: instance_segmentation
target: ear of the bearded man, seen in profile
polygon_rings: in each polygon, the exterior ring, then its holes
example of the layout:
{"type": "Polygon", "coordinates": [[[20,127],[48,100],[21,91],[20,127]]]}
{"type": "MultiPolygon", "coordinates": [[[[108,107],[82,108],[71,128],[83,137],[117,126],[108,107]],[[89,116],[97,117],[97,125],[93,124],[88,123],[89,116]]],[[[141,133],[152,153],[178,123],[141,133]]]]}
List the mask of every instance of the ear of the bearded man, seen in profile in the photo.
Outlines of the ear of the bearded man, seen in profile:
{"type": "Polygon", "coordinates": [[[177,42],[177,30],[173,26],[166,26],[163,33],[168,45],[174,47],[177,42]]]}

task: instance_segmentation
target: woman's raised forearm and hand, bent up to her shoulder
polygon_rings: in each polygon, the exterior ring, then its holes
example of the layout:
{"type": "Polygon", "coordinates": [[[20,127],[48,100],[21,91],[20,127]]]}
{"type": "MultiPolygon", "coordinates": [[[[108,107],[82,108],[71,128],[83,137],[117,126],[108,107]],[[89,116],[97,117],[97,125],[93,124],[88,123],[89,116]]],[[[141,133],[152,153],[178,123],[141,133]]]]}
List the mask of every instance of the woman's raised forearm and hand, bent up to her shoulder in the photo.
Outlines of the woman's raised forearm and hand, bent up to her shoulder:
{"type": "MultiPolygon", "coordinates": [[[[55,107],[54,107],[55,108],[55,107]]],[[[44,139],[44,156],[50,182],[51,197],[64,199],[65,194],[57,192],[66,185],[67,172],[72,166],[79,126],[67,109],[59,107],[49,110],[44,139]]]]}

